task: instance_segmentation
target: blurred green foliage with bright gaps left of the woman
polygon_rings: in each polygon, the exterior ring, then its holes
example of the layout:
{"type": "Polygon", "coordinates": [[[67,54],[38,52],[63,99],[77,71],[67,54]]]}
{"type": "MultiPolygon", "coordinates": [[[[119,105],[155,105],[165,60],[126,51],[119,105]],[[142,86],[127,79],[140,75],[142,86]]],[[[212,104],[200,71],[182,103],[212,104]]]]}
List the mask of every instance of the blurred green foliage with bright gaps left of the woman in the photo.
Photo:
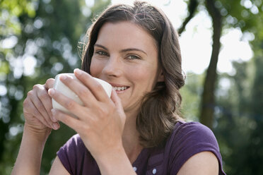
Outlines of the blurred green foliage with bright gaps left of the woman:
{"type": "MultiPolygon", "coordinates": [[[[23,99],[33,85],[79,68],[78,42],[94,12],[110,1],[0,1],[0,174],[10,174],[23,132],[23,99]],[[90,11],[84,13],[83,11],[90,11]],[[84,16],[84,14],[86,16],[84,16]],[[28,71],[31,70],[31,71],[28,71]]],[[[40,174],[47,174],[57,150],[71,135],[62,124],[47,140],[40,174]]]]}

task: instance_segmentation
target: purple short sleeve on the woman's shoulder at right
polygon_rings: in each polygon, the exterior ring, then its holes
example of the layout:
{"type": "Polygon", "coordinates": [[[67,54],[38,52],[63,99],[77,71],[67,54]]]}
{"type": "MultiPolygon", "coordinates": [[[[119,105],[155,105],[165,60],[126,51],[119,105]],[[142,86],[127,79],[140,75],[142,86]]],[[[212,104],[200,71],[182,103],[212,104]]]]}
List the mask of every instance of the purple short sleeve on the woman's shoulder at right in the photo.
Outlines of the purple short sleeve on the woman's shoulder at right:
{"type": "Polygon", "coordinates": [[[209,151],[218,159],[219,174],[222,170],[222,158],[214,133],[198,122],[182,123],[175,128],[172,135],[172,147],[169,166],[171,174],[177,174],[183,164],[193,155],[209,151]]]}

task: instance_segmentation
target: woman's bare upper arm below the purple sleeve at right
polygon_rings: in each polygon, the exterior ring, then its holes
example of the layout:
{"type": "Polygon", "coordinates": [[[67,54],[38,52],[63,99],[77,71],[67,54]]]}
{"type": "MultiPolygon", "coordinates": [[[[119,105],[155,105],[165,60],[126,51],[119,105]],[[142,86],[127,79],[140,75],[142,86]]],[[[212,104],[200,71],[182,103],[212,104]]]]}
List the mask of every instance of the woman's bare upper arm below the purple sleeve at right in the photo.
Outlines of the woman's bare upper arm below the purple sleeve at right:
{"type": "Polygon", "coordinates": [[[212,152],[199,152],[182,165],[177,175],[218,175],[218,159],[212,152]]]}

